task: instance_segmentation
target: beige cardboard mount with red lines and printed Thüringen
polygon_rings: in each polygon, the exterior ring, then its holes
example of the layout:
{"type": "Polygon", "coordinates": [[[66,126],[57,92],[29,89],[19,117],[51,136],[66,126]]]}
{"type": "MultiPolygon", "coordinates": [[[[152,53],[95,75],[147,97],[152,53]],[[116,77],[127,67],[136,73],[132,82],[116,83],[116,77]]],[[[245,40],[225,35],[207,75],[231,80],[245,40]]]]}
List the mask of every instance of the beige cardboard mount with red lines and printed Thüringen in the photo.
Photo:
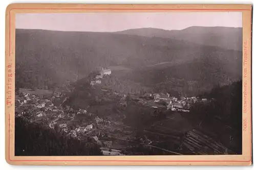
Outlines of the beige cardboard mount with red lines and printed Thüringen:
{"type": "Polygon", "coordinates": [[[6,161],[13,165],[251,165],[251,5],[11,4],[6,9],[6,161]],[[15,14],[86,12],[242,12],[243,154],[214,156],[14,156],[15,14]]]}

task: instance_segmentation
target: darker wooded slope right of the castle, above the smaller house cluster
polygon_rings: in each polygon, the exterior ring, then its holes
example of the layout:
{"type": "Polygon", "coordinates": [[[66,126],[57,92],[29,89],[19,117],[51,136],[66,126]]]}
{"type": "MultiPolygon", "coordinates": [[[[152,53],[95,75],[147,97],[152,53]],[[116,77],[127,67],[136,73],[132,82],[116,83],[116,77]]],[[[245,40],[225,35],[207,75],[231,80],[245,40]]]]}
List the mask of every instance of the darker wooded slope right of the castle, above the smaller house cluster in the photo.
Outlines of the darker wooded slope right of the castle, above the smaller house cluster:
{"type": "Polygon", "coordinates": [[[179,64],[163,63],[133,70],[125,78],[151,87],[154,91],[168,91],[182,95],[197,95],[210,90],[214,84],[229,84],[242,79],[242,52],[224,55],[216,51],[210,55],[179,64]]]}

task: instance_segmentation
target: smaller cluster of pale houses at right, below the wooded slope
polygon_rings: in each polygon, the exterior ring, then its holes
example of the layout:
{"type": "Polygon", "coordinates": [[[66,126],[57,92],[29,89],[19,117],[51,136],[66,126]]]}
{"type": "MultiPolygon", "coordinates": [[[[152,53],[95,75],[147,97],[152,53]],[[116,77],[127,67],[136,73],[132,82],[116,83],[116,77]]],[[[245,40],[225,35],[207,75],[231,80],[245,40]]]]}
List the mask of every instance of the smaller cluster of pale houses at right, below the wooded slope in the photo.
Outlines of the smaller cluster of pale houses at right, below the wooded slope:
{"type": "MultiPolygon", "coordinates": [[[[180,99],[176,98],[175,96],[170,96],[168,93],[145,93],[145,97],[150,97],[154,99],[155,103],[164,102],[167,109],[172,111],[181,111],[181,112],[189,112],[189,108],[193,103],[197,102],[207,102],[207,99],[200,99],[196,96],[192,97],[183,97],[181,96],[180,99]]],[[[156,106],[152,106],[157,108],[156,106]]]]}

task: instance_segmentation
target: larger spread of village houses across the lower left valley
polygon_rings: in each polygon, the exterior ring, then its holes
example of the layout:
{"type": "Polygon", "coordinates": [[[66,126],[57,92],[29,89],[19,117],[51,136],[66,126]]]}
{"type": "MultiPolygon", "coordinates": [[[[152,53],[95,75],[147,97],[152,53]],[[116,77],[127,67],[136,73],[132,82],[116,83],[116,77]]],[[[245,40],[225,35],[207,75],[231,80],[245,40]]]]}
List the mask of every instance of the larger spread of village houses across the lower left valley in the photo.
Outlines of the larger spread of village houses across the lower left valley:
{"type": "Polygon", "coordinates": [[[60,97],[63,96],[59,93],[54,93],[47,99],[41,99],[42,96],[25,92],[16,94],[15,116],[24,117],[30,114],[31,122],[40,123],[44,119],[48,128],[56,129],[58,127],[58,130],[68,137],[78,140],[88,140],[90,138],[100,144],[101,147],[112,145],[112,141],[98,139],[112,125],[109,120],[100,118],[94,113],[88,112],[87,109],[74,110],[70,106],[54,106],[54,99],[60,97]],[[88,122],[73,124],[79,122],[79,119],[75,118],[76,115],[94,118],[88,122]],[[101,131],[102,133],[99,133],[101,131]]]}

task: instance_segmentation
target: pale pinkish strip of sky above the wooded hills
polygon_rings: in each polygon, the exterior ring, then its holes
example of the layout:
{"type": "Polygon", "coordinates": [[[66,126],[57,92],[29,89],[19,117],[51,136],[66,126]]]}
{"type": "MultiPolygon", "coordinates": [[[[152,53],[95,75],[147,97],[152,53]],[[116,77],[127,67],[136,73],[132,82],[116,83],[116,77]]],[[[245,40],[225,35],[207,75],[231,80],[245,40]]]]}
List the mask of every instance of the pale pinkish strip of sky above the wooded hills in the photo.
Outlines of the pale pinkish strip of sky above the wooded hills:
{"type": "Polygon", "coordinates": [[[115,32],[136,28],[242,27],[242,12],[16,14],[17,29],[115,32]]]}

